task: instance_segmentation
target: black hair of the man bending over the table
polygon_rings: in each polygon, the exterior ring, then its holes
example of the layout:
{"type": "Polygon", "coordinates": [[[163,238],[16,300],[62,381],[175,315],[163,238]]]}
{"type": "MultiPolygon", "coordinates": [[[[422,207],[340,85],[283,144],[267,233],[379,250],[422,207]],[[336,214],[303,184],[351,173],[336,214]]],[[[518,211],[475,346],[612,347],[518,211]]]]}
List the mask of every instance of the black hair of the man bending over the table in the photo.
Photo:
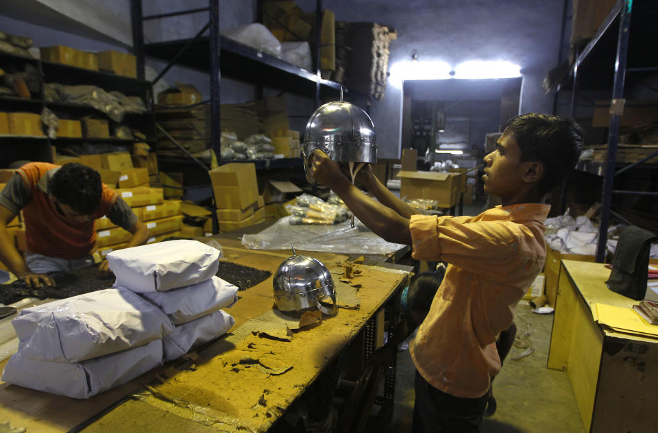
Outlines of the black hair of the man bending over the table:
{"type": "Polygon", "coordinates": [[[48,180],[48,191],[58,201],[82,215],[93,214],[101,203],[101,175],[91,167],[64,164],[48,180]]]}

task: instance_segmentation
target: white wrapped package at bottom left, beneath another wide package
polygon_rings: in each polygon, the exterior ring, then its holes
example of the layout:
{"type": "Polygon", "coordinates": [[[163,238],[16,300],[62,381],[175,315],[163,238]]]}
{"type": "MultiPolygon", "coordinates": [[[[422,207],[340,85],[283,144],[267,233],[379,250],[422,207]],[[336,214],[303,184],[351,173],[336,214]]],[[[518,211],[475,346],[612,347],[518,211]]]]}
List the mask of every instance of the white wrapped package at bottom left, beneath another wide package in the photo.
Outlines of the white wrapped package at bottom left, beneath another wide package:
{"type": "Polygon", "coordinates": [[[162,364],[162,340],[82,362],[23,358],[21,346],[5,365],[2,380],[47,393],[86,399],[162,364]]]}

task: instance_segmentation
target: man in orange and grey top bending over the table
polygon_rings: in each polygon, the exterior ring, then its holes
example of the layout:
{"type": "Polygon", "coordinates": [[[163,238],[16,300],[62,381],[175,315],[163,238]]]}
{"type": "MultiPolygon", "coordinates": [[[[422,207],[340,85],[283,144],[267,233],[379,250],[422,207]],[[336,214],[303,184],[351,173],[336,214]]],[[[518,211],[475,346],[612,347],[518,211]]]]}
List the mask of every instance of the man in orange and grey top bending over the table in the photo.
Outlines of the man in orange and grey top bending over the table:
{"type": "MultiPolygon", "coordinates": [[[[130,206],[101,182],[94,169],[30,162],[14,173],[0,192],[0,261],[30,286],[54,284],[49,272],[65,272],[94,264],[95,219],[107,216],[132,233],[125,246],[143,245],[149,230],[130,206]],[[10,240],[7,224],[21,209],[25,217],[26,260],[10,240]]],[[[108,272],[103,260],[100,271],[108,272]]]]}

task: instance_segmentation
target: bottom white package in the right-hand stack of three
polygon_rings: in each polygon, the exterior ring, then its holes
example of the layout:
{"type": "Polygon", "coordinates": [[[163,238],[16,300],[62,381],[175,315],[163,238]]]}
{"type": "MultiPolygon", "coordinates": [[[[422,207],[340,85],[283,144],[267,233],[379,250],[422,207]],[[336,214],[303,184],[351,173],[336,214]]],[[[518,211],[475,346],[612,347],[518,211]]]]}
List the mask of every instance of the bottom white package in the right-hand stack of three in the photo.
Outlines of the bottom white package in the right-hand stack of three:
{"type": "Polygon", "coordinates": [[[171,334],[162,338],[164,362],[180,358],[193,346],[207,343],[226,334],[234,323],[235,320],[228,312],[219,310],[195,321],[176,326],[171,334]]]}

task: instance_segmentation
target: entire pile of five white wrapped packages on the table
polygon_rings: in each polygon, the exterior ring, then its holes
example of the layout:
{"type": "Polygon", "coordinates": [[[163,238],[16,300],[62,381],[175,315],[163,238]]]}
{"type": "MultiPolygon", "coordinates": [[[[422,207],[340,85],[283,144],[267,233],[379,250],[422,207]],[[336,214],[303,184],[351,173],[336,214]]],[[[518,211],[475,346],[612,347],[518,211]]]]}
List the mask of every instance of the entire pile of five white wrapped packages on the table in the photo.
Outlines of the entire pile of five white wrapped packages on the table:
{"type": "Polygon", "coordinates": [[[225,334],[237,288],[215,277],[219,250],[195,240],[108,254],[114,288],[25,308],[2,380],[87,398],[225,334]],[[164,291],[167,290],[167,291],[164,291]]]}

